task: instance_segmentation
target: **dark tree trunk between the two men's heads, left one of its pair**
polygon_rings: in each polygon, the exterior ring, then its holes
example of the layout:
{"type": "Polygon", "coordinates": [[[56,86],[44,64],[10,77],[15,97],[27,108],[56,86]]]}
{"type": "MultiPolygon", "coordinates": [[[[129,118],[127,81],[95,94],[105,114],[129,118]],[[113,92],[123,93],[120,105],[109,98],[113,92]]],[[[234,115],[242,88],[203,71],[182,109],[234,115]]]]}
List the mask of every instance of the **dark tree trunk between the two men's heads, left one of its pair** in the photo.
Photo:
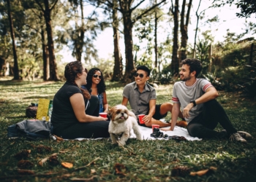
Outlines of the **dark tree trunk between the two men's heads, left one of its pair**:
{"type": "Polygon", "coordinates": [[[178,0],[175,1],[173,11],[173,55],[172,63],[170,65],[173,75],[178,74],[179,61],[178,61],[178,0]]]}

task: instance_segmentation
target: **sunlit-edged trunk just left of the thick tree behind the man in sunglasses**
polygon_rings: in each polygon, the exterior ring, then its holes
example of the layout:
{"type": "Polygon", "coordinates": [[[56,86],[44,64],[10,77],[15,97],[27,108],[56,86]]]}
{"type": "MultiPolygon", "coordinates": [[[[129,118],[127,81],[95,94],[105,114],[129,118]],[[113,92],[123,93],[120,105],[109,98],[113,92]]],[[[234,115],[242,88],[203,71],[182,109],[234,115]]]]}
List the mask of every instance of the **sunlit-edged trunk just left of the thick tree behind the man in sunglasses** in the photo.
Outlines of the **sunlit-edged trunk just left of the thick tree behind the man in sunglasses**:
{"type": "Polygon", "coordinates": [[[113,77],[112,81],[120,81],[123,76],[123,64],[121,58],[121,52],[119,47],[119,32],[118,32],[118,13],[116,10],[117,0],[113,0],[113,38],[114,38],[114,58],[115,65],[113,68],[113,77]]]}

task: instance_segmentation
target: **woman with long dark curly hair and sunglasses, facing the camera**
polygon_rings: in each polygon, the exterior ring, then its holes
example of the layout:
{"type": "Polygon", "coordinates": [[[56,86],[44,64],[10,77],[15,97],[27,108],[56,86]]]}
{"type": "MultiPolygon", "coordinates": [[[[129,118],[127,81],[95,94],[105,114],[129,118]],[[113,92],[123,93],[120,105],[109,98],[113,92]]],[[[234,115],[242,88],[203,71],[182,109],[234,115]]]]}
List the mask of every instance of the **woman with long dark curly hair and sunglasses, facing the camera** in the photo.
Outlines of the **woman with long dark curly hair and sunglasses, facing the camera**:
{"type": "Polygon", "coordinates": [[[91,95],[96,95],[99,98],[99,113],[108,112],[106,85],[102,71],[99,68],[91,68],[88,71],[86,81],[87,84],[82,87],[89,90],[91,95]]]}

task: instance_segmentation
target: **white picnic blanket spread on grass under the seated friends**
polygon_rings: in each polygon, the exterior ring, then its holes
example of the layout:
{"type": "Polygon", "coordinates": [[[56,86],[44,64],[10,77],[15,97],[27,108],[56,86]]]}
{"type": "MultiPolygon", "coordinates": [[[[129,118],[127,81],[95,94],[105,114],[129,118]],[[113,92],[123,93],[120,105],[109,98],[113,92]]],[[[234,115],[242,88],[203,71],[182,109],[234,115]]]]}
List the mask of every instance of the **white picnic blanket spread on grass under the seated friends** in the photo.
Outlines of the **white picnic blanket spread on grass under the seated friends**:
{"type": "MultiPolygon", "coordinates": [[[[163,140],[164,138],[153,138],[150,136],[150,134],[152,133],[152,128],[151,127],[142,127],[142,126],[139,126],[140,127],[140,132],[142,133],[143,135],[143,140],[163,140]]],[[[183,128],[183,127],[178,127],[176,126],[174,128],[173,131],[162,131],[161,132],[169,136],[174,136],[174,135],[177,135],[177,136],[184,136],[184,138],[186,138],[188,141],[201,141],[202,139],[201,138],[197,138],[197,137],[192,137],[189,135],[189,132],[187,132],[187,129],[186,128],[183,128]]],[[[135,134],[133,134],[130,138],[135,138],[135,134]]],[[[56,140],[56,138],[53,136],[53,139],[56,140]]],[[[102,138],[75,138],[74,140],[76,141],[83,141],[83,140],[99,140],[99,139],[102,139],[102,138]]],[[[68,140],[68,139],[64,139],[64,140],[68,140]]]]}

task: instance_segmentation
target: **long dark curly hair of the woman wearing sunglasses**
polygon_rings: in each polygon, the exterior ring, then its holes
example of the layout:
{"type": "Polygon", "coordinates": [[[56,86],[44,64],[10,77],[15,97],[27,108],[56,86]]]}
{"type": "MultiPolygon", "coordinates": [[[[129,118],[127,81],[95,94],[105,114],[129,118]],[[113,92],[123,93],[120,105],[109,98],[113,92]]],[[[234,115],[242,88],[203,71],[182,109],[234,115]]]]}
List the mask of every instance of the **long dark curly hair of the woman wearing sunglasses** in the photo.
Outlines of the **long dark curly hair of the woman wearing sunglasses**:
{"type": "MultiPolygon", "coordinates": [[[[102,71],[100,71],[99,68],[91,68],[88,71],[87,78],[86,78],[86,80],[87,80],[86,88],[89,90],[89,92],[91,92],[92,76],[97,71],[99,71],[100,74],[102,74],[102,71]]],[[[105,92],[105,90],[106,90],[106,85],[105,85],[103,74],[102,74],[102,79],[100,79],[99,84],[97,84],[97,90],[98,90],[98,94],[101,94],[102,92],[105,92]]]]}

